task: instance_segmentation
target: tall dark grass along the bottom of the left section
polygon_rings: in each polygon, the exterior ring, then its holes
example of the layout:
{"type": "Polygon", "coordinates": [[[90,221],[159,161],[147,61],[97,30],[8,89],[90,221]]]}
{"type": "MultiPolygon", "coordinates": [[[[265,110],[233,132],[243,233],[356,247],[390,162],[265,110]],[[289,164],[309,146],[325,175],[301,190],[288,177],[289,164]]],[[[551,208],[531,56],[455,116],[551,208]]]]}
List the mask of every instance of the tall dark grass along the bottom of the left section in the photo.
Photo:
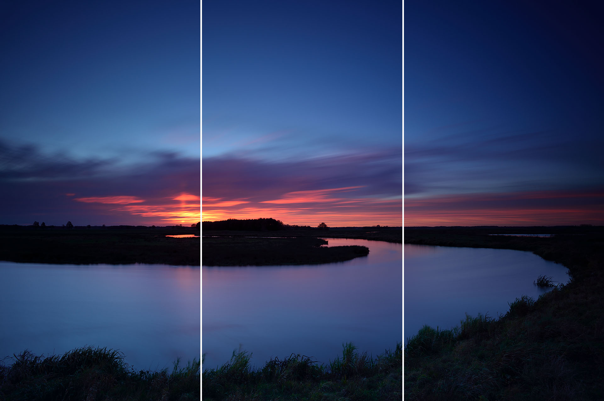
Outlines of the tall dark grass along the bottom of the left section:
{"type": "Polygon", "coordinates": [[[63,355],[28,350],[0,365],[2,400],[198,400],[200,362],[174,362],[171,373],[135,371],[123,353],[83,347],[63,355]]]}

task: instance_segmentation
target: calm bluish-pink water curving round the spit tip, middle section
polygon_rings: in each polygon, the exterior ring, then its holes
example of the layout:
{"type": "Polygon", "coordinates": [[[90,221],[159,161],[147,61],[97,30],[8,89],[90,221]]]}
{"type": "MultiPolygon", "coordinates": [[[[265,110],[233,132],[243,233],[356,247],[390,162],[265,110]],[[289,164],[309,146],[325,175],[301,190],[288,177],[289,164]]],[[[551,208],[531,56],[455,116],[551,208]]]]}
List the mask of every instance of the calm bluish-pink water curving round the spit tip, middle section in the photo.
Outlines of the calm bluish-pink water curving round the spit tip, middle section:
{"type": "Polygon", "coordinates": [[[342,342],[375,356],[402,341],[402,245],[327,240],[370,252],[325,265],[202,266],[204,368],[240,346],[259,367],[291,353],[329,362],[342,342]]]}

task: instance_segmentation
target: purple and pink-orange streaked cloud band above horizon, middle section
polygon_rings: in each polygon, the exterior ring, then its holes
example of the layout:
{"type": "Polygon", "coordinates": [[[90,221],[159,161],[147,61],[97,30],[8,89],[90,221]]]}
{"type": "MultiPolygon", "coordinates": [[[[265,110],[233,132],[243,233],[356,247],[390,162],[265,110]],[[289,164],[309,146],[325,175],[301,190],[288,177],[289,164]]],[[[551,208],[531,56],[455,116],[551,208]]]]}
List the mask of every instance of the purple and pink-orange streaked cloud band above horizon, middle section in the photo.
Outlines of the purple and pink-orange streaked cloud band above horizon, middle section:
{"type": "Polygon", "coordinates": [[[274,217],[288,224],[401,225],[396,150],[263,162],[205,158],[203,220],[274,217]]]}

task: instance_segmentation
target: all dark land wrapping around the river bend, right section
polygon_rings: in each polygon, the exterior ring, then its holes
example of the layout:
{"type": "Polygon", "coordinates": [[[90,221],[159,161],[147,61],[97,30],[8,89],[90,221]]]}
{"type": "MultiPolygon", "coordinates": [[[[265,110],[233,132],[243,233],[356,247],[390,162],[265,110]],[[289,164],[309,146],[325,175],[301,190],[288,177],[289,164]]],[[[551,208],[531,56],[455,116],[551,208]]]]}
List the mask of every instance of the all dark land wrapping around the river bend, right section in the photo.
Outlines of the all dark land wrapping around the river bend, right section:
{"type": "Polygon", "coordinates": [[[424,327],[404,350],[405,399],[604,399],[604,228],[405,228],[405,243],[532,251],[572,278],[538,300],[510,300],[497,320],[424,327]],[[504,233],[556,236],[488,235],[504,233]]]}

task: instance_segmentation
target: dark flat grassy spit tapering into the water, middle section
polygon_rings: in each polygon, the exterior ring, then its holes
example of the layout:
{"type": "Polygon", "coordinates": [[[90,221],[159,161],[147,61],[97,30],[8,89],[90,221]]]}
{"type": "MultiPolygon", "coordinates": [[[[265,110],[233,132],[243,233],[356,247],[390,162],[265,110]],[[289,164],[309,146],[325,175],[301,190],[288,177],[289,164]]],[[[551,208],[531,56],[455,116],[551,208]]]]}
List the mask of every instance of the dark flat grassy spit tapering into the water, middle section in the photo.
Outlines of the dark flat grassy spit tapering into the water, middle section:
{"type": "MultiPolygon", "coordinates": [[[[266,233],[265,233],[266,235],[266,233]]],[[[204,237],[204,266],[309,265],[367,256],[366,246],[326,245],[318,238],[204,237]]]]}

